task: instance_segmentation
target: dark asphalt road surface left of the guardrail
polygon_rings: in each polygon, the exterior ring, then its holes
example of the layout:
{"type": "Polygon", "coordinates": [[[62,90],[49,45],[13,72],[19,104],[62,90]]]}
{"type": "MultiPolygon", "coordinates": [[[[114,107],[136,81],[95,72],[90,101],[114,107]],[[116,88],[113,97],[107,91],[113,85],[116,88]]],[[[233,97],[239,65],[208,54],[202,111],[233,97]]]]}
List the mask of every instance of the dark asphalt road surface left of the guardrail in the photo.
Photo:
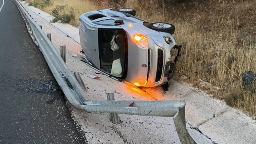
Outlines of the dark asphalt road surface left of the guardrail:
{"type": "MultiPolygon", "coordinates": [[[[3,0],[0,0],[0,8],[3,0]]],[[[0,11],[0,143],[82,144],[64,94],[18,8],[0,11]]]]}

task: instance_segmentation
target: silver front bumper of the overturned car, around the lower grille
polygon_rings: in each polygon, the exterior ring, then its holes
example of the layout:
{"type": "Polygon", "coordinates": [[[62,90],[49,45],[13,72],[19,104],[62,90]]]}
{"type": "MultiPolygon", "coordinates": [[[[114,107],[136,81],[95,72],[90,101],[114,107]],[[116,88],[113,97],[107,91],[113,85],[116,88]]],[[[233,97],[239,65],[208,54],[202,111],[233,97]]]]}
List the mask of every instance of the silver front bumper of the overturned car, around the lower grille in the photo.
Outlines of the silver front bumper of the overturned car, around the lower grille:
{"type": "Polygon", "coordinates": [[[148,82],[145,87],[160,86],[168,81],[170,54],[172,48],[176,45],[174,38],[171,35],[170,37],[172,44],[167,44],[163,36],[154,37],[154,40],[149,39],[148,82]]]}

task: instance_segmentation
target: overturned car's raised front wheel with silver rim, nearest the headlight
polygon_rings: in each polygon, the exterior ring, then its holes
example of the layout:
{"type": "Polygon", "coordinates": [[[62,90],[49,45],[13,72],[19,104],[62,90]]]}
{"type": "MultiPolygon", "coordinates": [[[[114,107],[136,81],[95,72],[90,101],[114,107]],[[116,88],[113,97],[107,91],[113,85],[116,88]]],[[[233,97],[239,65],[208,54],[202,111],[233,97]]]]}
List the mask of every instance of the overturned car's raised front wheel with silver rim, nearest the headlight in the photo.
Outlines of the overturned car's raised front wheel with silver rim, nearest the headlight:
{"type": "Polygon", "coordinates": [[[167,32],[169,34],[174,34],[175,26],[173,24],[168,24],[164,22],[155,22],[149,25],[149,28],[152,30],[167,32]]]}

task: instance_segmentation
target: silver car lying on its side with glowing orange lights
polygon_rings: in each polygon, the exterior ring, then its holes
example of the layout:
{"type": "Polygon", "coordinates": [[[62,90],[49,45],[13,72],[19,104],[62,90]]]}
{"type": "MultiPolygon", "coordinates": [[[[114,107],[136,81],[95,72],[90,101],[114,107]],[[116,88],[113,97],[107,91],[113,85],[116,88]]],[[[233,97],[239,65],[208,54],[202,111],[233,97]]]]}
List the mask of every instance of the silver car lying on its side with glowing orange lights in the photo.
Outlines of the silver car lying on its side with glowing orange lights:
{"type": "Polygon", "coordinates": [[[136,18],[135,10],[105,9],[79,18],[84,58],[93,68],[136,86],[166,84],[175,27],[136,18]],[[131,15],[132,14],[132,15],[131,15]]]}

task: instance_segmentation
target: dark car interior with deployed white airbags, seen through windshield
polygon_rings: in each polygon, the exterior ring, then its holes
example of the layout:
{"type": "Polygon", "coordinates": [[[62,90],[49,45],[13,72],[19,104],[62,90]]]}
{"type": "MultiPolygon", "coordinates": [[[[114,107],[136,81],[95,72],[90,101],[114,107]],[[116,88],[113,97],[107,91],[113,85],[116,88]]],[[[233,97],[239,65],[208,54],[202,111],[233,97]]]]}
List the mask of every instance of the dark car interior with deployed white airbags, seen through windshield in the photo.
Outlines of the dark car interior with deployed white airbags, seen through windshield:
{"type": "Polygon", "coordinates": [[[120,30],[99,29],[99,56],[101,70],[122,77],[124,72],[124,35],[120,30]]]}

